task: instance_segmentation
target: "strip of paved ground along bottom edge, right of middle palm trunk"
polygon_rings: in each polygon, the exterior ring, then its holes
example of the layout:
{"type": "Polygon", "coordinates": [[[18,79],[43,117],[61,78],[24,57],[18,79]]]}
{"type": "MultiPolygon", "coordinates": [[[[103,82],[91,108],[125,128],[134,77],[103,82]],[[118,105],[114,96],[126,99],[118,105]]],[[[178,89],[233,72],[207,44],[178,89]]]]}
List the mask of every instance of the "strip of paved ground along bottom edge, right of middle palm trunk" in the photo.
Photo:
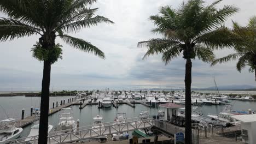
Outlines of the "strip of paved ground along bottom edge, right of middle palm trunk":
{"type": "Polygon", "coordinates": [[[208,137],[207,139],[200,139],[200,144],[242,144],[243,142],[235,141],[227,137],[208,137]]]}

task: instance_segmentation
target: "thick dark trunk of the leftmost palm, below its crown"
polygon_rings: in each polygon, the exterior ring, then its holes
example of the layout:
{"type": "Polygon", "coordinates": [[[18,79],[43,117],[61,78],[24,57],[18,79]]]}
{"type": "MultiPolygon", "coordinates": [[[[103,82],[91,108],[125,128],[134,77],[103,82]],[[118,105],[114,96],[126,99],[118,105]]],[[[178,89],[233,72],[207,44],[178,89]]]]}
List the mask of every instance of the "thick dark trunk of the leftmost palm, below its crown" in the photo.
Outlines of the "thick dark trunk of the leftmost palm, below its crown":
{"type": "Polygon", "coordinates": [[[51,63],[44,61],[42,93],[40,103],[40,122],[39,122],[39,144],[47,143],[48,136],[48,112],[49,112],[49,93],[50,93],[51,63]]]}

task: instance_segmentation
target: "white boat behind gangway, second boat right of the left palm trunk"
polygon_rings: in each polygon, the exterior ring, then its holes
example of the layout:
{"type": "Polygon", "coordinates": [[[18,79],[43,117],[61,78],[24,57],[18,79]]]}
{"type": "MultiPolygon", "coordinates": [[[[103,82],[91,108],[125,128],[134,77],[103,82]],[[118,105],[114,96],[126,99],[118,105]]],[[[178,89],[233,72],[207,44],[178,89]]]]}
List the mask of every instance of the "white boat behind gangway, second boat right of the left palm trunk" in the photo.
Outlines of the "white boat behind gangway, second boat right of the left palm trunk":
{"type": "MultiPolygon", "coordinates": [[[[93,129],[93,131],[95,131],[95,133],[97,133],[97,131],[103,131],[104,130],[104,124],[102,124],[103,121],[103,117],[100,115],[97,115],[96,117],[92,118],[92,122],[94,123],[94,125],[91,126],[91,128],[93,129]]],[[[100,139],[101,142],[106,142],[107,141],[107,135],[106,136],[100,136],[100,137],[96,137],[96,139],[100,139]]]]}

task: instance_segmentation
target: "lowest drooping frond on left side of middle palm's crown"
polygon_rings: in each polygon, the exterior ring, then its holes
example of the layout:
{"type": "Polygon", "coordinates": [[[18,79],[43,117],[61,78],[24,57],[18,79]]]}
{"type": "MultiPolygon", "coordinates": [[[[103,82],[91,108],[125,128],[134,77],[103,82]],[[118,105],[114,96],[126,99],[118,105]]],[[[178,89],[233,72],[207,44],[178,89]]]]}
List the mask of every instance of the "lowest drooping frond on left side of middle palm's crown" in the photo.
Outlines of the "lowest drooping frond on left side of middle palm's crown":
{"type": "Polygon", "coordinates": [[[175,45],[173,47],[170,47],[170,49],[168,49],[164,53],[162,53],[162,61],[165,62],[165,65],[167,65],[172,59],[181,55],[180,49],[181,47],[175,45]]]}

